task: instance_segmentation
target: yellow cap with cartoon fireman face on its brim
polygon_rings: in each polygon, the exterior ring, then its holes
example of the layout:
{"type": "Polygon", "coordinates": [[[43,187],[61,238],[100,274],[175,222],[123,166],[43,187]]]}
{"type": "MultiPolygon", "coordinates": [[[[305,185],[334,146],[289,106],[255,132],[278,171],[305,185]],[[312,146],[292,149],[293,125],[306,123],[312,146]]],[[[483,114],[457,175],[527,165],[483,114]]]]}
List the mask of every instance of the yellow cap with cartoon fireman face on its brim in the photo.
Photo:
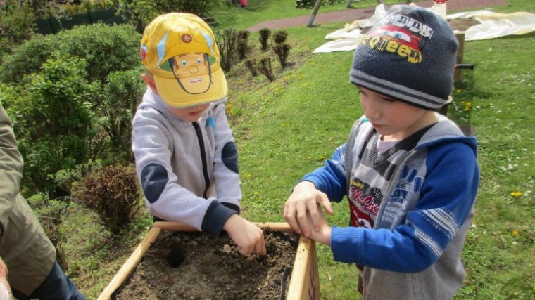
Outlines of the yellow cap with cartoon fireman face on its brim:
{"type": "Polygon", "coordinates": [[[227,96],[212,30],[188,13],[160,15],[146,28],[141,59],[171,107],[190,107],[227,96]]]}

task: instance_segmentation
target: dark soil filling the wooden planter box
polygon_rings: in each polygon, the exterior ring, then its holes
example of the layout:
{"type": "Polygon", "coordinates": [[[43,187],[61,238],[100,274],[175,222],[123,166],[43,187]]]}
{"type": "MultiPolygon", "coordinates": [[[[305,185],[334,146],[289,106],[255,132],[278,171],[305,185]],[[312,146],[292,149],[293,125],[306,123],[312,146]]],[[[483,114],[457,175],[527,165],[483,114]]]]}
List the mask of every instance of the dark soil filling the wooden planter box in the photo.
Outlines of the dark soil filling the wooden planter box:
{"type": "Polygon", "coordinates": [[[269,229],[264,236],[267,255],[243,256],[226,235],[162,231],[115,299],[279,299],[299,236],[269,229]]]}

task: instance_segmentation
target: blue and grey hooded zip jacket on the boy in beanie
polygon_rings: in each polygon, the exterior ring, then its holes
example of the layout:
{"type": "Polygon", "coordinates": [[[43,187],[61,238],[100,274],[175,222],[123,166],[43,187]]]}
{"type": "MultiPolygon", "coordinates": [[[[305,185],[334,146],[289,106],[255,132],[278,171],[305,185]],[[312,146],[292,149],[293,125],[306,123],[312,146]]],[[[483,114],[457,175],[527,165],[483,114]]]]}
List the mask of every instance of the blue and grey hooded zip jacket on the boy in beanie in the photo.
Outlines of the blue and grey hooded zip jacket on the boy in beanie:
{"type": "Polygon", "coordinates": [[[351,226],[332,226],[334,260],[363,268],[364,299],[452,299],[479,187],[477,141],[446,117],[379,154],[365,117],[325,166],[303,177],[339,202],[351,226]]]}

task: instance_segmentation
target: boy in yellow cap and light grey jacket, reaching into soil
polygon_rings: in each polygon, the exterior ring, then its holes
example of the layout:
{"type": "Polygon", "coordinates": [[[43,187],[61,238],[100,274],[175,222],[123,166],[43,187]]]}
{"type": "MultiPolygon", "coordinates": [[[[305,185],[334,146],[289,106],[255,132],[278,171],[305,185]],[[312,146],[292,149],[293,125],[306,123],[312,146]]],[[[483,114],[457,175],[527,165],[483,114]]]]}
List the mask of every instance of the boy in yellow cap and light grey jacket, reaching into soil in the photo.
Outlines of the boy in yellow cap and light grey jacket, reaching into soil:
{"type": "Polygon", "coordinates": [[[160,15],[146,27],[140,53],[147,89],[132,122],[132,150],[155,221],[225,231],[241,254],[265,254],[263,231],[239,216],[238,152],[212,30],[196,15],[160,15]]]}

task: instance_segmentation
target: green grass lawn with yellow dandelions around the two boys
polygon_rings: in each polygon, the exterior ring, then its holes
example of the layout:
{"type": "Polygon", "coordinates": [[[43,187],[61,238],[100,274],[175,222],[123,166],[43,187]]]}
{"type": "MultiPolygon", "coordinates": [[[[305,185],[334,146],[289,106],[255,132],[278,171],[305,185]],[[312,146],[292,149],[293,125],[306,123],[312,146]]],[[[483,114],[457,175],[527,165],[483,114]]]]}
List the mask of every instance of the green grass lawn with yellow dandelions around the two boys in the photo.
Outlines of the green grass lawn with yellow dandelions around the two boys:
{"type": "MultiPolygon", "coordinates": [[[[264,20],[310,13],[295,8],[295,1],[248,2],[247,10],[224,8],[215,13],[214,30],[244,30],[264,20]]],[[[508,2],[493,11],[534,13],[531,0],[508,2]]],[[[320,13],[344,9],[345,3],[322,6],[320,13]]],[[[353,7],[375,4],[363,0],[353,7]]],[[[242,206],[251,221],[284,221],[282,207],[293,185],[344,143],[362,113],[358,93],[348,80],[352,51],[312,53],[326,42],[326,34],[343,26],[285,30],[291,64],[282,70],[271,55],[273,82],[262,74],[252,77],[243,61],[227,74],[227,111],[240,153],[242,206]]],[[[267,56],[258,50],[258,34],[249,40],[254,46],[250,57],[267,56]]],[[[463,252],[467,278],[455,299],[535,297],[534,48],[534,33],[465,43],[465,63],[475,68],[463,71],[464,80],[455,86],[450,115],[476,131],[481,185],[463,252]]],[[[95,220],[74,207],[62,228],[69,237],[63,244],[68,273],[89,299],[96,299],[151,224],[144,214],[124,234],[113,236],[95,220]]],[[[346,202],[334,205],[330,221],[347,224],[346,202]]],[[[355,267],[334,262],[327,247],[319,245],[317,251],[322,299],[360,299],[355,267]]]]}

